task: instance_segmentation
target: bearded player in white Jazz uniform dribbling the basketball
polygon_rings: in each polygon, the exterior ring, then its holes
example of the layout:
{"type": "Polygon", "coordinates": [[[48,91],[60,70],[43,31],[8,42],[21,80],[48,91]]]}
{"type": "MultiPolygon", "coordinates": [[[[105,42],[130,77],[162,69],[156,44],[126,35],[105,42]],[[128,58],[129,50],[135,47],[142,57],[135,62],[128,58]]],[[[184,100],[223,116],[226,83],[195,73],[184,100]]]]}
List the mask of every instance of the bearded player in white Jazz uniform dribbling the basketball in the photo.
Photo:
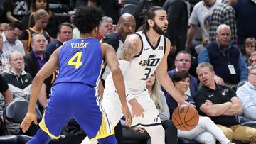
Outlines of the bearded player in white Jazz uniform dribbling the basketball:
{"type": "MultiPolygon", "coordinates": [[[[132,125],[144,127],[151,136],[152,144],[164,144],[164,128],[161,126],[159,112],[151,100],[146,79],[156,70],[159,82],[178,104],[188,104],[178,94],[167,74],[167,56],[171,43],[164,37],[168,21],[166,11],[154,6],[144,13],[143,31],[128,35],[124,48],[119,56],[119,65],[124,74],[127,90],[127,101],[132,109],[132,125]]],[[[102,107],[113,126],[123,116],[111,74],[105,81],[102,107]]],[[[90,143],[87,138],[82,144],[90,143]]]]}

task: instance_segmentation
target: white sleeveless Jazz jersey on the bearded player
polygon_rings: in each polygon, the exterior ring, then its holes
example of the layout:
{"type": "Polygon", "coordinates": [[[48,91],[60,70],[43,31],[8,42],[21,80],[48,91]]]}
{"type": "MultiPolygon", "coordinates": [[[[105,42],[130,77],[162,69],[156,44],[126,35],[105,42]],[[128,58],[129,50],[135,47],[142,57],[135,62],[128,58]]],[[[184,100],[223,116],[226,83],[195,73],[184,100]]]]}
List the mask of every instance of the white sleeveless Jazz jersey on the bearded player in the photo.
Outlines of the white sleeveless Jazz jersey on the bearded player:
{"type": "Polygon", "coordinates": [[[142,50],[139,55],[132,58],[129,68],[124,73],[124,81],[132,94],[139,94],[146,89],[146,79],[153,74],[156,67],[164,57],[166,50],[166,38],[160,35],[158,43],[154,47],[149,42],[146,33],[135,33],[142,40],[142,50]]]}

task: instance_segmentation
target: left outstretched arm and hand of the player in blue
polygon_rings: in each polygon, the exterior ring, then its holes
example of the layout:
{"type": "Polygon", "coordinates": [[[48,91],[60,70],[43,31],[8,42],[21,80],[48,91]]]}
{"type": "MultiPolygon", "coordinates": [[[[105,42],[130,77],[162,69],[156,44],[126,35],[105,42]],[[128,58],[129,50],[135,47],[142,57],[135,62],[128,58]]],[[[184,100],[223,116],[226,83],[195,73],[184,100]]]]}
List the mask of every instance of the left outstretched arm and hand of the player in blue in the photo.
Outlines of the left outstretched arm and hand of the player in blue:
{"type": "Polygon", "coordinates": [[[58,67],[59,51],[60,51],[60,48],[58,48],[57,50],[55,50],[55,52],[53,52],[53,55],[51,55],[48,62],[46,62],[46,64],[43,65],[41,70],[39,70],[39,72],[36,74],[36,77],[33,79],[32,87],[31,87],[31,96],[29,98],[29,104],[28,104],[28,112],[26,113],[26,116],[21,123],[21,129],[23,133],[25,133],[28,130],[32,121],[34,121],[34,123],[37,124],[36,101],[38,99],[38,95],[41,92],[41,87],[43,85],[44,79],[49,77],[50,74],[53,74],[53,72],[58,67]]]}

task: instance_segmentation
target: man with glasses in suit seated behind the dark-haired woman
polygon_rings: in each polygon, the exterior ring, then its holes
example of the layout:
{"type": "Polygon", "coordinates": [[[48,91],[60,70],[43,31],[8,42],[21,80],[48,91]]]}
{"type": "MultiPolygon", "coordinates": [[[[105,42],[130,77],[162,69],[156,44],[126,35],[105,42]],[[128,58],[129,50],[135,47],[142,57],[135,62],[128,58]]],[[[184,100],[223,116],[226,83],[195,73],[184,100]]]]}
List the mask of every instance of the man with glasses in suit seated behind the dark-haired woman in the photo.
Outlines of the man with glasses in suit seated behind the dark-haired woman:
{"type": "MultiPolygon", "coordinates": [[[[171,70],[168,72],[168,75],[171,79],[173,78],[174,74],[180,70],[185,70],[186,72],[188,72],[190,70],[190,68],[191,68],[190,53],[183,51],[183,50],[178,52],[178,54],[175,58],[174,65],[175,65],[174,70],[171,70]]],[[[186,95],[191,96],[193,98],[197,91],[198,82],[197,82],[197,79],[195,77],[193,77],[191,74],[189,76],[190,76],[190,84],[189,84],[188,90],[186,92],[186,95]]],[[[172,96],[170,96],[170,94],[168,94],[165,91],[164,87],[162,87],[162,89],[166,96],[166,101],[167,101],[170,115],[171,115],[173,113],[174,109],[178,106],[178,104],[176,103],[174,98],[172,96]]]]}

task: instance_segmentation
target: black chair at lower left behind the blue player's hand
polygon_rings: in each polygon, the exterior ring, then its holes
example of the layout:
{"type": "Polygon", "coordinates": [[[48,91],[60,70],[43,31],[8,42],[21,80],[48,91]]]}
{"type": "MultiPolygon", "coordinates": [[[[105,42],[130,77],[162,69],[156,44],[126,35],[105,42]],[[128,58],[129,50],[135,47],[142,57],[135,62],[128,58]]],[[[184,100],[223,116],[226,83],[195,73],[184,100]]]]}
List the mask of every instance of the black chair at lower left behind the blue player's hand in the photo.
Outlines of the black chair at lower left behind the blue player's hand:
{"type": "MultiPolygon", "coordinates": [[[[6,135],[10,135],[8,131],[8,126],[6,125],[6,120],[11,121],[12,123],[21,123],[23,121],[23,118],[26,116],[27,111],[28,111],[28,101],[21,101],[21,100],[11,101],[9,104],[6,105],[3,113],[6,135]]],[[[42,114],[37,107],[36,107],[36,115],[38,118],[38,122],[41,121],[42,114]]],[[[38,130],[38,128],[39,128],[38,126],[32,123],[31,127],[28,129],[28,132],[21,133],[21,134],[33,136],[36,134],[36,131],[38,130]]]]}

